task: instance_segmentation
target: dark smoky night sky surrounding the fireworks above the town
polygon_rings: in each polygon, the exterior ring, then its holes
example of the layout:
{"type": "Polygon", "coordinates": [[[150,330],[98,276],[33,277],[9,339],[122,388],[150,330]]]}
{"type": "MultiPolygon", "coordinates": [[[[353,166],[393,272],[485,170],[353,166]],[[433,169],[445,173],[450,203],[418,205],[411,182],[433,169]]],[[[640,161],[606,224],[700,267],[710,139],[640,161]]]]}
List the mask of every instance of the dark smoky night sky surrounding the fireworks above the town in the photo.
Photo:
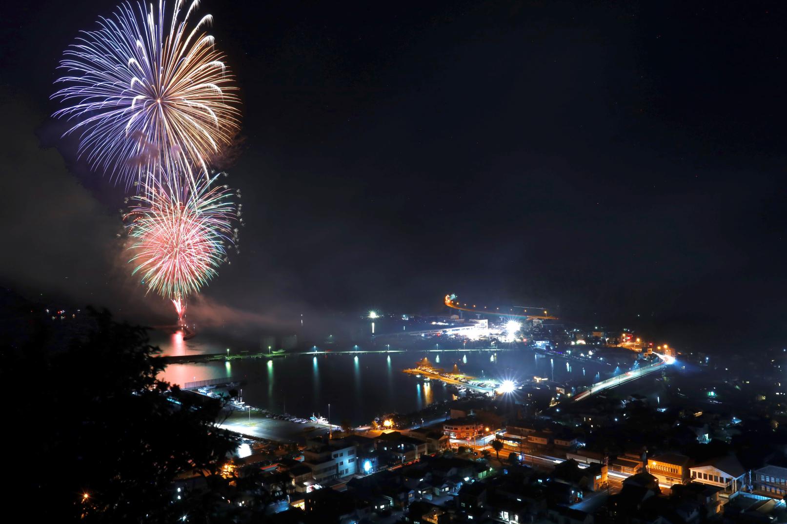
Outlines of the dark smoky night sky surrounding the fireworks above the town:
{"type": "MultiPolygon", "coordinates": [[[[272,319],[456,292],[780,343],[780,3],[205,0],[242,87],[247,222],[205,298],[272,319]]],[[[46,117],[62,50],[113,9],[4,9],[0,280],[133,316],[161,304],[124,276],[122,190],[46,117]]]]}

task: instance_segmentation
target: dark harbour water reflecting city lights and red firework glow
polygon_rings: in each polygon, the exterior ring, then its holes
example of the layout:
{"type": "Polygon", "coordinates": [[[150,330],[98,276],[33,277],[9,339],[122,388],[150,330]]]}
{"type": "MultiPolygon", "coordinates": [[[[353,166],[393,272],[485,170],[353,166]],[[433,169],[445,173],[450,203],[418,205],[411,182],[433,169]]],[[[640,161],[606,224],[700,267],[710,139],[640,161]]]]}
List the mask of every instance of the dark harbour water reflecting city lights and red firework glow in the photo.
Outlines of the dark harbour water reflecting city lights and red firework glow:
{"type": "MultiPolygon", "coordinates": [[[[220,348],[198,338],[178,340],[173,345],[158,343],[165,355],[217,352],[220,348]]],[[[211,378],[233,378],[242,382],[243,400],[254,407],[308,418],[312,413],[327,416],[330,403],[333,423],[348,419],[353,425],[364,425],[375,415],[409,413],[452,398],[452,389],[442,382],[423,382],[402,372],[425,356],[435,367],[450,371],[456,364],[462,373],[479,378],[521,381],[539,376],[556,382],[570,381],[576,386],[586,386],[627,369],[623,365],[567,359],[530,349],[442,352],[413,349],[178,363],[167,367],[164,378],[181,385],[211,378]]]]}

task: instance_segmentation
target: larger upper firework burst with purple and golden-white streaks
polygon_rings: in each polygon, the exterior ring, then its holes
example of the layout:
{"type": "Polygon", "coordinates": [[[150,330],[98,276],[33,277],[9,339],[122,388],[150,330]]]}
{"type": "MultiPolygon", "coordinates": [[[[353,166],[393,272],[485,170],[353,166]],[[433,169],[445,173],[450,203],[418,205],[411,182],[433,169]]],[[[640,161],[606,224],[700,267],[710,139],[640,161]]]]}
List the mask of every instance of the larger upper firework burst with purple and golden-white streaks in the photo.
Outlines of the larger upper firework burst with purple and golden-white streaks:
{"type": "Polygon", "coordinates": [[[234,77],[202,32],[212,17],[190,27],[198,0],[183,7],[177,0],[167,23],[161,0],[149,11],[124,3],[83,31],[59,67],[64,87],[52,98],[70,105],[54,116],[75,122],[65,135],[79,132],[80,156],[126,186],[150,185],[156,166],[196,186],[239,129],[234,77]]]}

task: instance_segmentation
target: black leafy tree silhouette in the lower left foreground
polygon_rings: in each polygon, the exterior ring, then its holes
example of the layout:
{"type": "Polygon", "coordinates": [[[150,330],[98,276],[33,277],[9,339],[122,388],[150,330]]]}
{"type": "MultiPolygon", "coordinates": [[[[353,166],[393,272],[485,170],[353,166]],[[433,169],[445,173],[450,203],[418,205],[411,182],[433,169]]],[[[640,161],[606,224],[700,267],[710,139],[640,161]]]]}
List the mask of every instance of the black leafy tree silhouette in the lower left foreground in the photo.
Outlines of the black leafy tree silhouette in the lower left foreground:
{"type": "Polygon", "coordinates": [[[28,507],[53,522],[209,518],[224,482],[216,471],[235,445],[215,426],[223,404],[159,380],[164,361],[144,328],[92,309],[47,323],[37,308],[0,341],[0,380],[24,391],[6,416],[24,421],[17,445],[35,449],[11,457],[17,492],[38,501],[28,507]],[[20,369],[34,370],[35,387],[20,369]],[[178,475],[204,478],[209,489],[177,500],[178,475]]]}

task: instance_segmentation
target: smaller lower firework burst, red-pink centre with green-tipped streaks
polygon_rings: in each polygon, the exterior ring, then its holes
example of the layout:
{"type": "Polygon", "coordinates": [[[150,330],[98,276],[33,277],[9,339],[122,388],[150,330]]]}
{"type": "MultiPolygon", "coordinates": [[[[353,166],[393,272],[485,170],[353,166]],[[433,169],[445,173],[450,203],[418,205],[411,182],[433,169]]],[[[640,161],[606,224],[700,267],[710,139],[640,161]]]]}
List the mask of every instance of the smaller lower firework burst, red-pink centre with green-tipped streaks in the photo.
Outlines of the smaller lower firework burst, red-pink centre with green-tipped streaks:
{"type": "Polygon", "coordinates": [[[216,276],[229,249],[240,253],[234,227],[236,218],[242,224],[242,205],[234,202],[240,194],[217,184],[219,175],[200,179],[194,188],[155,181],[167,176],[151,177],[154,182],[143,194],[130,197],[124,217],[134,253],[132,275],[141,275],[148,292],[172,301],[181,324],[187,297],[216,276]]]}

